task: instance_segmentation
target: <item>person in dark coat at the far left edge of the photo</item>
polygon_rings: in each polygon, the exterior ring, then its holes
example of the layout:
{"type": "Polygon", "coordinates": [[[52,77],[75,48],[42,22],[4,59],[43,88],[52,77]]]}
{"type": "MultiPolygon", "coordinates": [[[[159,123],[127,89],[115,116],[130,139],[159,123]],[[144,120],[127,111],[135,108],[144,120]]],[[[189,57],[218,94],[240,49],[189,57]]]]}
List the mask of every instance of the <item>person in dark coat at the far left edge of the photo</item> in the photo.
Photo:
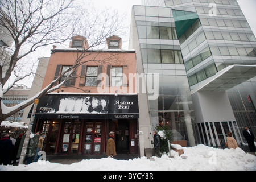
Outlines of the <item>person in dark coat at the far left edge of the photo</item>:
{"type": "Polygon", "coordinates": [[[8,133],[2,133],[0,139],[0,164],[11,164],[11,154],[13,152],[13,143],[8,133]]]}

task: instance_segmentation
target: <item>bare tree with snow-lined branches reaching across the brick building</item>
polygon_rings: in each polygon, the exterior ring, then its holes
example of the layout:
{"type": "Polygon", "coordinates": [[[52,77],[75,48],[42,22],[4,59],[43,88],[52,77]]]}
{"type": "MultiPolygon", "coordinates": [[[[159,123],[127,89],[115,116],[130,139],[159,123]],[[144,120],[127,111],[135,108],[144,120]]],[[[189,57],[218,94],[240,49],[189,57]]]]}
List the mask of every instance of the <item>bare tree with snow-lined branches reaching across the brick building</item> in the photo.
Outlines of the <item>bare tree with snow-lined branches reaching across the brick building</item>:
{"type": "MultiPolygon", "coordinates": [[[[79,65],[94,61],[93,59],[85,61],[85,57],[92,51],[102,48],[108,36],[120,35],[122,17],[117,12],[109,10],[97,12],[92,7],[88,11],[81,9],[81,5],[81,2],[76,0],[2,0],[0,2],[0,27],[5,28],[6,34],[11,36],[15,44],[13,48],[1,46],[3,53],[0,58],[0,122],[32,104],[36,98],[39,99],[44,94],[60,88],[79,65]],[[73,65],[34,97],[16,106],[6,107],[2,101],[3,94],[17,81],[32,74],[27,72],[19,75],[19,62],[39,47],[63,43],[74,35],[85,36],[90,46],[77,51],[73,65]],[[4,56],[6,52],[8,56],[4,56]],[[7,89],[3,89],[12,73],[16,76],[15,81],[7,89]],[[60,82],[66,73],[69,73],[68,76],[60,82]]],[[[112,58],[114,56],[112,55],[112,58]]],[[[109,59],[101,60],[100,64],[106,63],[109,59]]]]}

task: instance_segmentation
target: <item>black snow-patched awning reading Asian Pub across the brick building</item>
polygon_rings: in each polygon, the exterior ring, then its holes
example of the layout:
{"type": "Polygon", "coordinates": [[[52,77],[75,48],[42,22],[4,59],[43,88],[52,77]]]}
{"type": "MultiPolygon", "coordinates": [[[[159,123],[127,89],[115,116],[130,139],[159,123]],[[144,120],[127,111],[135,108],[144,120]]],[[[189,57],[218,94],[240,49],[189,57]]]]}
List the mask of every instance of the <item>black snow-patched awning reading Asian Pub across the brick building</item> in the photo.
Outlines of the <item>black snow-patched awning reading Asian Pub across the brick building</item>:
{"type": "Polygon", "coordinates": [[[48,94],[36,107],[35,118],[134,119],[139,118],[138,95],[48,94]]]}

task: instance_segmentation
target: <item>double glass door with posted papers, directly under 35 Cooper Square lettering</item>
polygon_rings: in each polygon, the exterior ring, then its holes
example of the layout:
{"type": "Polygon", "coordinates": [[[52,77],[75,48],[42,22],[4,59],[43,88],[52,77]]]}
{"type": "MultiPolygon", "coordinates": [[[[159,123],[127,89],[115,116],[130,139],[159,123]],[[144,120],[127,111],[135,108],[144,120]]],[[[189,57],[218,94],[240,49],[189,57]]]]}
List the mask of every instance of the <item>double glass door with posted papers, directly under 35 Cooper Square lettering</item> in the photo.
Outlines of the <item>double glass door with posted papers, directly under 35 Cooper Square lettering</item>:
{"type": "Polygon", "coordinates": [[[81,122],[67,120],[63,125],[63,135],[60,153],[77,154],[80,142],[81,122]]]}

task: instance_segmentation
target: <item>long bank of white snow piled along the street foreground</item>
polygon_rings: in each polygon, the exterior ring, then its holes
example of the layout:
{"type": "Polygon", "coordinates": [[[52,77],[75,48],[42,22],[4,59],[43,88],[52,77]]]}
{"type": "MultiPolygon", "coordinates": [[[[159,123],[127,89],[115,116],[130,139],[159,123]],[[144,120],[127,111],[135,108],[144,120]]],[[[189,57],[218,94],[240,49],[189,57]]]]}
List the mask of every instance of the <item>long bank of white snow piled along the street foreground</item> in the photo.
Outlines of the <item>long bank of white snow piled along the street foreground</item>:
{"type": "Polygon", "coordinates": [[[49,161],[19,166],[0,166],[0,170],[15,171],[256,171],[256,156],[247,154],[241,148],[217,149],[200,144],[183,147],[184,154],[171,151],[172,158],[146,157],[116,160],[112,158],[88,159],[72,164],[51,163],[49,161]],[[153,160],[154,159],[154,160],[153,160]]]}

